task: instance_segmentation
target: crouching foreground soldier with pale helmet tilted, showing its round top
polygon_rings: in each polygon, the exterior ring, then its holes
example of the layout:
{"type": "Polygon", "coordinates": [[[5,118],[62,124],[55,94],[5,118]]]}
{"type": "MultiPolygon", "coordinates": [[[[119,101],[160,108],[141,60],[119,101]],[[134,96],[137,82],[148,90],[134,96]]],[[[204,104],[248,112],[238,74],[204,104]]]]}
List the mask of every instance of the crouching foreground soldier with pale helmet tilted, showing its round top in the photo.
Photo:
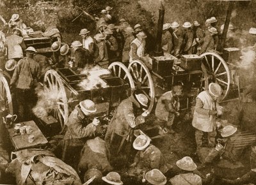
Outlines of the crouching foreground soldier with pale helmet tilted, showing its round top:
{"type": "Polygon", "coordinates": [[[169,165],[159,149],[150,144],[150,138],[145,135],[139,135],[133,142],[134,149],[138,150],[134,163],[131,168],[134,168],[136,175],[142,175],[143,172],[148,172],[154,168],[166,174],[171,165],[169,165]]]}

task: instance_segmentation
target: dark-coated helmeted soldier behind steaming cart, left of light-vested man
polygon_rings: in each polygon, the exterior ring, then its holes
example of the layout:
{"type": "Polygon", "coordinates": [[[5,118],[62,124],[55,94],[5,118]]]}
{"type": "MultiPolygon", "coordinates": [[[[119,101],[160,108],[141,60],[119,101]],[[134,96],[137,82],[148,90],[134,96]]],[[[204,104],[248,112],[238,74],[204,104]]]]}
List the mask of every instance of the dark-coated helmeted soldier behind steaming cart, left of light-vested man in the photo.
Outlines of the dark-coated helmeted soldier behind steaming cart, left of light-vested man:
{"type": "Polygon", "coordinates": [[[83,48],[80,41],[73,41],[71,46],[71,59],[73,63],[70,64],[71,68],[82,70],[86,65],[92,64],[92,57],[90,52],[83,48]]]}

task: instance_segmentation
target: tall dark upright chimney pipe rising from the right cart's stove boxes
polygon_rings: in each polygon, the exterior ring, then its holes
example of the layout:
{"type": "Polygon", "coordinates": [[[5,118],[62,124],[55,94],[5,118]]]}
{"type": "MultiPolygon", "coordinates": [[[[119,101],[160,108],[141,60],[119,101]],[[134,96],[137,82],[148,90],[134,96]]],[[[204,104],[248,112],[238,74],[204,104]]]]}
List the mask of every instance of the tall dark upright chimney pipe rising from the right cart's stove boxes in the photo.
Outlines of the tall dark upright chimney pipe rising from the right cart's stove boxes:
{"type": "Polygon", "coordinates": [[[164,24],[164,5],[163,5],[163,0],[160,0],[159,17],[158,17],[158,24],[157,24],[157,35],[156,35],[156,48],[154,50],[155,56],[163,56],[163,50],[161,47],[163,24],[164,24]]]}

